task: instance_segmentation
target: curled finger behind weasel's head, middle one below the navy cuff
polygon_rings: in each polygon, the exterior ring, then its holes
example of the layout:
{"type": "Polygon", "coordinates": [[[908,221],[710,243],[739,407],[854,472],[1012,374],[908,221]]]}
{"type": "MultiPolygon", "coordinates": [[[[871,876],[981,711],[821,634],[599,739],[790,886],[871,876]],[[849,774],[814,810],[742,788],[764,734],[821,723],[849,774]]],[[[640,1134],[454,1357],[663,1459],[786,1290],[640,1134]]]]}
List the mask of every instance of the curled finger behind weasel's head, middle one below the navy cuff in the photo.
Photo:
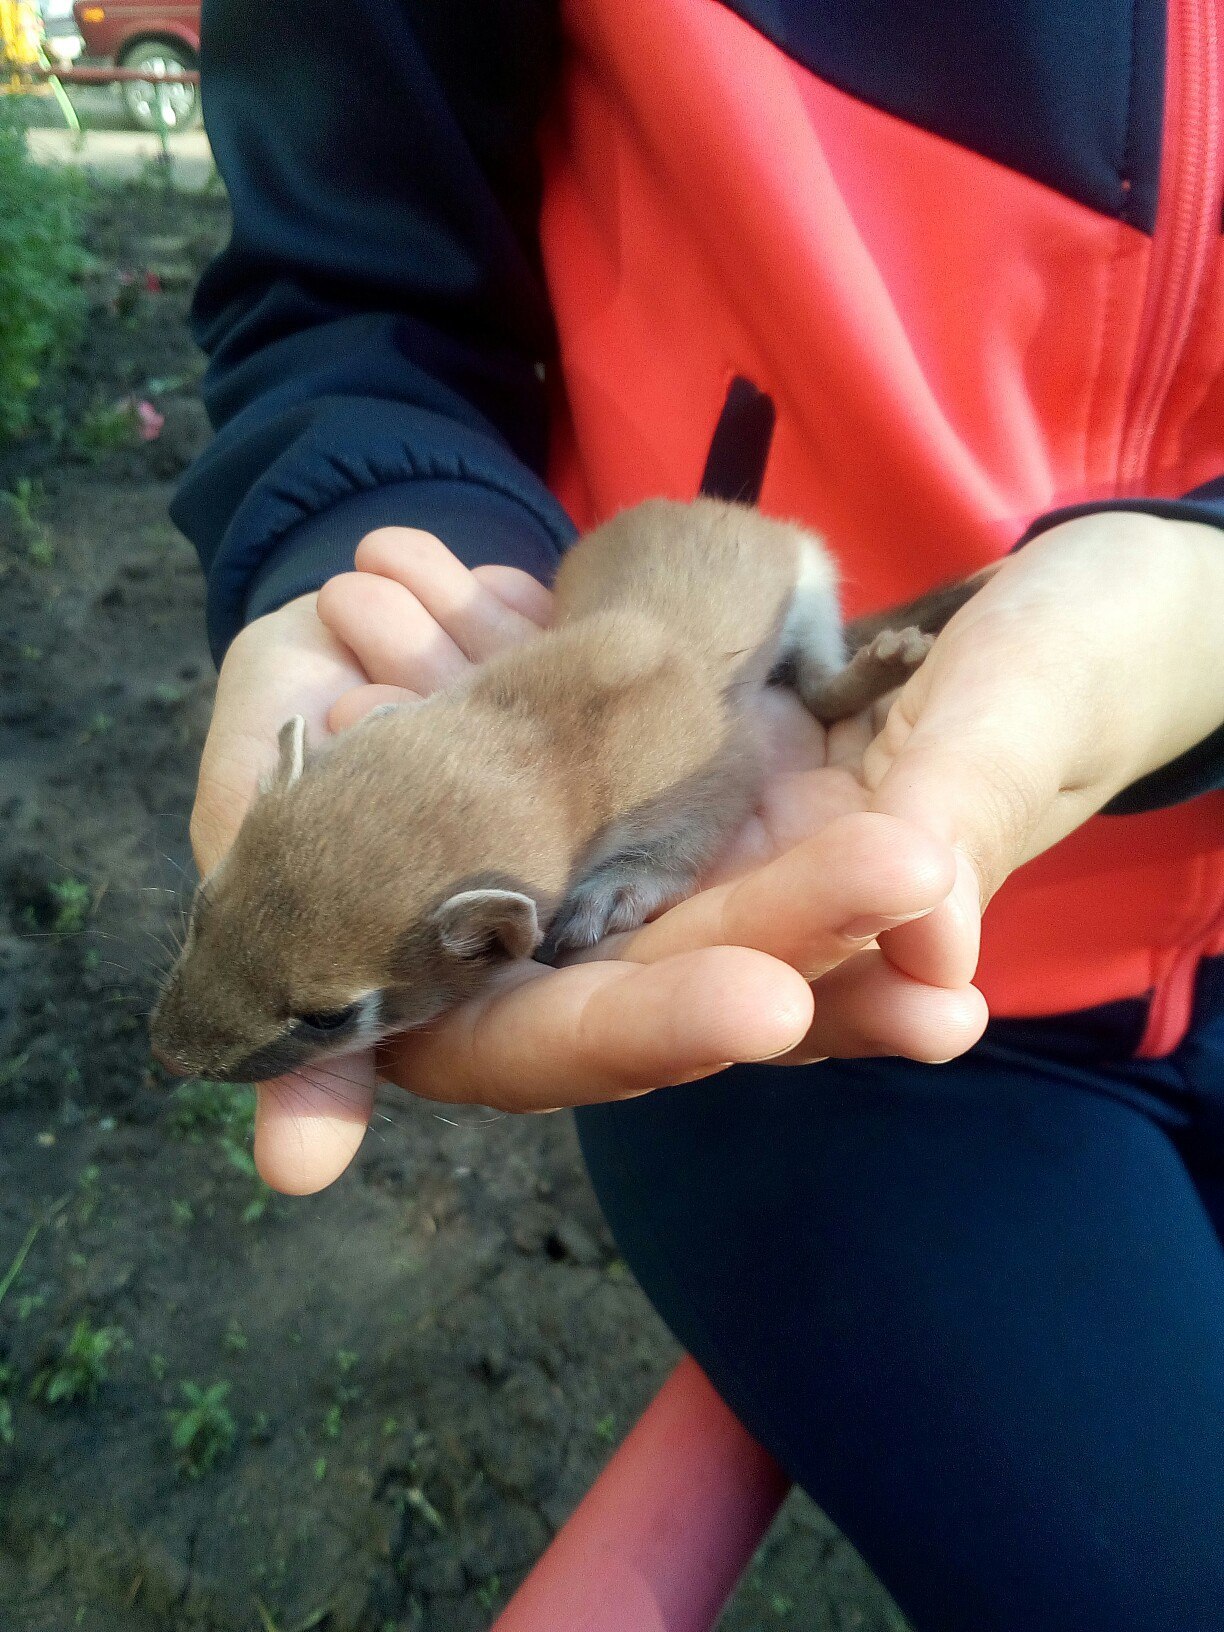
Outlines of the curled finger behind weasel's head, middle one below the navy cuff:
{"type": "Polygon", "coordinates": [[[318,615],[375,685],[436,692],[468,663],[434,615],[403,584],[374,573],[339,573],[318,591],[318,615]]]}

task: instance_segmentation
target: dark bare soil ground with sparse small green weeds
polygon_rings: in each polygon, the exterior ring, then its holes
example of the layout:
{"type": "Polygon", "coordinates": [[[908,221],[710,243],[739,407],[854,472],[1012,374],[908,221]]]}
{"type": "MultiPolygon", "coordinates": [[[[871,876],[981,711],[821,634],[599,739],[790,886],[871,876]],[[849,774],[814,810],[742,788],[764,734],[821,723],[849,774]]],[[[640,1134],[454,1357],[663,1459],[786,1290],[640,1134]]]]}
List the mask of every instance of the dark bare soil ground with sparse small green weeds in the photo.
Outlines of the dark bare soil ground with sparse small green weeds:
{"type": "MultiPolygon", "coordinates": [[[[566,1118],[387,1098],[344,1180],[287,1201],[250,1093],[152,1067],[212,692],[166,501],[207,434],[184,313],[225,204],[93,212],[83,348],[0,455],[0,1621],[486,1627],[674,1345],[566,1118]]],[[[723,1619],[901,1627],[798,1498],[723,1619]]]]}

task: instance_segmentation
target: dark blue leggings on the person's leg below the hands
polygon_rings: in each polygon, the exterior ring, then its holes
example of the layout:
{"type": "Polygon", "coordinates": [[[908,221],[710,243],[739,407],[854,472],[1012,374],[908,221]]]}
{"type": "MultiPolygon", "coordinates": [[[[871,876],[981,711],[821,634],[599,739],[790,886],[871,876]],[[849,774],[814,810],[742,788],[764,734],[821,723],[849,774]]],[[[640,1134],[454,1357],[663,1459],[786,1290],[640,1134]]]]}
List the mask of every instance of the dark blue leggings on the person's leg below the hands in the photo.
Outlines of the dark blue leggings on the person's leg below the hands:
{"type": "Polygon", "coordinates": [[[917,1632],[1224,1632],[1224,960],[948,1066],[583,1111],[641,1284],[917,1632]]]}

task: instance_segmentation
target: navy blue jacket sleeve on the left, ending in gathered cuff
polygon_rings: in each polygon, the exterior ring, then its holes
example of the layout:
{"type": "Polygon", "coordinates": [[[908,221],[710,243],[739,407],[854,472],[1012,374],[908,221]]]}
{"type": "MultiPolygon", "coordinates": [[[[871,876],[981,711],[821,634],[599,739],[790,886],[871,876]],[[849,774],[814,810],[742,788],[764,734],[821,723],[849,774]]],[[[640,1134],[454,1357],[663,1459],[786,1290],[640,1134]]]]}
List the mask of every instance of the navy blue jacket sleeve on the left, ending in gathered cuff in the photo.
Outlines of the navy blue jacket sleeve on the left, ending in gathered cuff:
{"type": "Polygon", "coordinates": [[[220,658],[385,522],[547,579],[553,333],[535,126],[547,0],[206,0],[204,113],[233,207],[193,308],[217,436],[173,517],[220,658]]]}

